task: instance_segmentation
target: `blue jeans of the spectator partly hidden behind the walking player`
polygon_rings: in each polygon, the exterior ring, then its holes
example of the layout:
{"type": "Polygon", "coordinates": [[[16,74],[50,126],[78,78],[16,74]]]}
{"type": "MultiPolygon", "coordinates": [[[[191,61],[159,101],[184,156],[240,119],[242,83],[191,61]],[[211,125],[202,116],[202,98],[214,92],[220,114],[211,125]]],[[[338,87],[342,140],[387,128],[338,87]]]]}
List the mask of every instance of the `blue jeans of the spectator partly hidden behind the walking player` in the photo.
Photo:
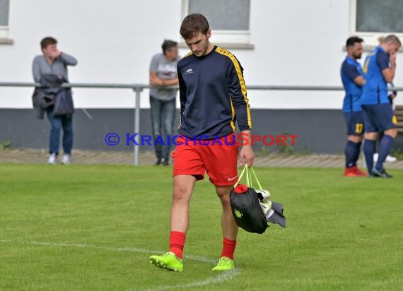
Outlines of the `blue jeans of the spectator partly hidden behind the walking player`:
{"type": "Polygon", "coordinates": [[[158,136],[163,138],[164,144],[157,143],[155,145],[156,156],[158,160],[169,159],[170,145],[167,144],[167,136],[172,138],[173,124],[175,121],[175,99],[173,100],[158,100],[150,96],[151,105],[151,126],[153,129],[153,139],[156,141],[158,136]]]}

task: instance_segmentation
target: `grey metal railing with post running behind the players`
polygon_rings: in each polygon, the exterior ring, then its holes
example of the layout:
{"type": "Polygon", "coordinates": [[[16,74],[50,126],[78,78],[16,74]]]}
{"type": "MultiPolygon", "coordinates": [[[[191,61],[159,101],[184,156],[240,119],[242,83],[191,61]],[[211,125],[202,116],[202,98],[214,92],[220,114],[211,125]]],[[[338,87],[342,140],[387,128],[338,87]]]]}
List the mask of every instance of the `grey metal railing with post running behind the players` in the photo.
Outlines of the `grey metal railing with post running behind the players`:
{"type": "MultiPolygon", "coordinates": [[[[40,83],[0,82],[0,87],[40,87],[40,83]]],[[[140,97],[141,91],[152,88],[148,84],[112,84],[112,83],[64,83],[64,88],[103,88],[103,89],[131,89],[135,93],[134,132],[140,133],[140,97]]],[[[177,88],[173,86],[172,88],[177,88]]],[[[341,91],[341,86],[302,86],[302,85],[247,85],[247,90],[281,90],[281,91],[341,91]]],[[[390,88],[390,90],[403,91],[403,87],[390,88]]],[[[134,137],[139,143],[140,134],[134,137]]],[[[134,165],[139,165],[139,146],[134,145],[134,165]]]]}

